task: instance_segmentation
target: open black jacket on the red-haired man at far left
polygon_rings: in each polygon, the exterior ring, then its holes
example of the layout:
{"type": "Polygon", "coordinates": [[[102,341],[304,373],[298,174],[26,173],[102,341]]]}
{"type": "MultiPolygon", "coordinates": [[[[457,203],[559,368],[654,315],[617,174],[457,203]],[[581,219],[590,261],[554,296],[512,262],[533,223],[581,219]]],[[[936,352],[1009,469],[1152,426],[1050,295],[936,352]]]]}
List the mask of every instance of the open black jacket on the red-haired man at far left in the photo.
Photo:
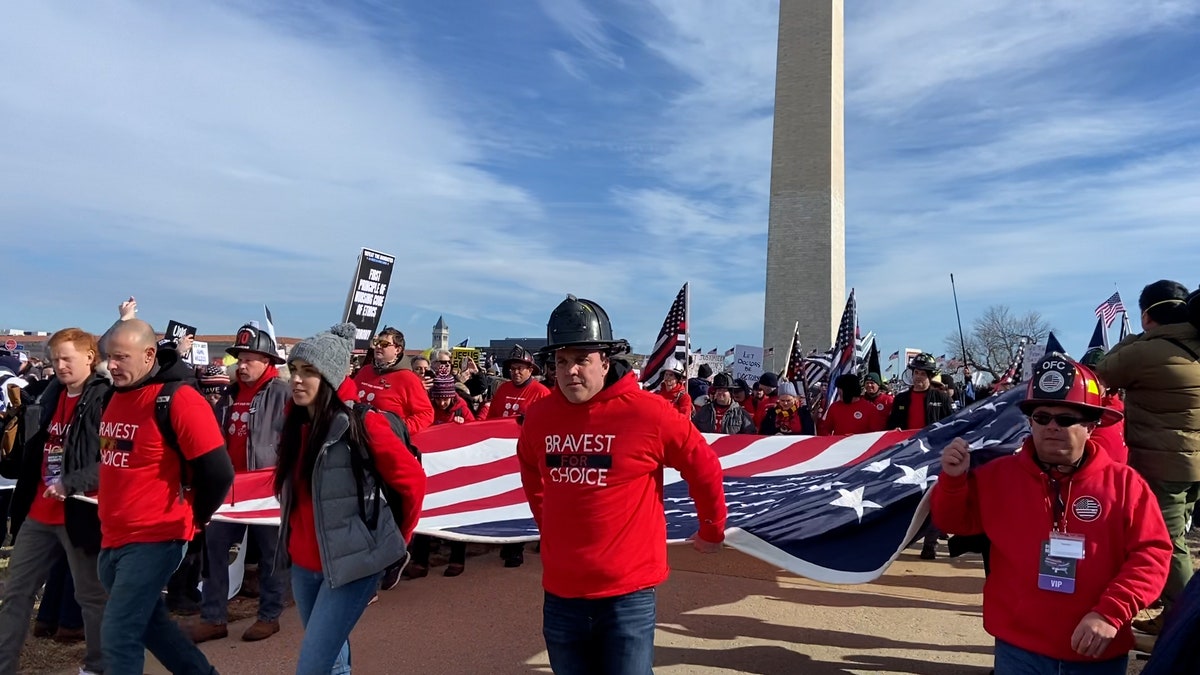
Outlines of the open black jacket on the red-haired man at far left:
{"type": "MultiPolygon", "coordinates": [[[[100,486],[100,418],[112,395],[113,384],[106,375],[92,374],[84,384],[67,437],[62,443],[62,488],[67,495],[95,491],[100,486]]],[[[20,459],[20,476],[13,491],[11,516],[13,528],[29,515],[38,491],[46,490],[42,461],[46,435],[59,405],[62,384],[53,380],[25,408],[26,438],[20,459]]],[[[100,515],[96,504],[79,500],[62,503],[67,537],[76,548],[89,554],[100,551],[100,515]]]]}

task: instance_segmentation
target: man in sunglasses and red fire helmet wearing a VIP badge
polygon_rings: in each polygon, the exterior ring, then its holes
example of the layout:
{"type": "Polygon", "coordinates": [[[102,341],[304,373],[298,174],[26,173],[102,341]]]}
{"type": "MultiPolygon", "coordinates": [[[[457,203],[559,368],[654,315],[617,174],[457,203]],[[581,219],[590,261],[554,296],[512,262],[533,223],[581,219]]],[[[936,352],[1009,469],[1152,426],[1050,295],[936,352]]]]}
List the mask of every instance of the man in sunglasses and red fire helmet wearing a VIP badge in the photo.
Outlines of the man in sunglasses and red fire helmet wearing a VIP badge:
{"type": "Polygon", "coordinates": [[[1130,620],[1166,583],[1171,540],[1136,471],[1090,438],[1105,408],[1096,375],[1060,353],[1038,364],[1021,411],[1032,436],[970,471],[962,438],[942,452],[934,522],[985,533],[984,628],[996,673],[1124,675],[1130,620]]]}

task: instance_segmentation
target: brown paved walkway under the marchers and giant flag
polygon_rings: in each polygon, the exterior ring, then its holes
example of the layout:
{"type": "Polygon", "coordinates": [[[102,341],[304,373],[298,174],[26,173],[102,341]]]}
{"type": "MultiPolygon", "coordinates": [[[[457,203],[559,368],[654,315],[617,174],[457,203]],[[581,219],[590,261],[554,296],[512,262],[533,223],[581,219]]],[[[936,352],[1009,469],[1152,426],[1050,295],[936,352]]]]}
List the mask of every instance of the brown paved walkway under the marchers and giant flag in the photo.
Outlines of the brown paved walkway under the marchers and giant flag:
{"type": "MultiPolygon", "coordinates": [[[[934,562],[906,551],[875,584],[830,586],[779,574],[737,551],[672,546],[660,589],[655,673],[984,675],[991,639],[979,615],[978,556],[934,562]]],[[[352,635],[354,673],[550,673],[541,641],[541,567],[472,557],[457,579],[404,581],[382,593],[352,635]]],[[[440,568],[433,571],[440,573],[440,568]]],[[[205,644],[226,674],[290,674],[300,644],[294,609],[263,643],[205,644]]],[[[161,668],[148,668],[155,675],[161,668]]]]}

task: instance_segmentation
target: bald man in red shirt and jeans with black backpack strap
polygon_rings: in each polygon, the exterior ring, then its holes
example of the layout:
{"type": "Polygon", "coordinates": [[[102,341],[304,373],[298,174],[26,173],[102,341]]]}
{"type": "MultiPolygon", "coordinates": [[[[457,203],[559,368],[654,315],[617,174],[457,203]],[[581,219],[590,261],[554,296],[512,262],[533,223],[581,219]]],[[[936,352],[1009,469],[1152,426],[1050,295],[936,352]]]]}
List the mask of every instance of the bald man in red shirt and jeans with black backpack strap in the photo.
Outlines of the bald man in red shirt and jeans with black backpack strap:
{"type": "Polygon", "coordinates": [[[149,323],[118,322],[103,351],[114,384],[100,423],[106,673],[143,673],[145,650],[172,673],[216,673],[170,620],[161,592],[233,484],[224,437],[204,396],[182,386],[190,369],[169,352],[160,358],[149,323]],[[155,414],[160,398],[169,401],[166,430],[155,414]]]}

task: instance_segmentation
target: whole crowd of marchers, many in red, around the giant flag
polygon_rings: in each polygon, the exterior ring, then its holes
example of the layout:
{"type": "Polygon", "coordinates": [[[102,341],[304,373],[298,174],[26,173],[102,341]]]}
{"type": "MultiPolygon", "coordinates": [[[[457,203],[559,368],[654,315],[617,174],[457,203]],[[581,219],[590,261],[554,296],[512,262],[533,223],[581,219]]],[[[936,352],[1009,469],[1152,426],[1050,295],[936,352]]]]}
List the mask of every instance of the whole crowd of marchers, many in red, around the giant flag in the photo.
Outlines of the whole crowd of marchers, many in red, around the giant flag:
{"type": "MultiPolygon", "coordinates": [[[[1183,597],[1200,496],[1198,293],[1150,285],[1142,333],[1079,362],[1046,354],[1021,404],[1032,435],[1015,455],[972,467],[964,442],[943,450],[932,524],[984,554],[997,673],[1123,673],[1138,613],[1164,607],[1136,626],[1158,633],[1183,597]]],[[[907,364],[902,392],[878,374],[827,383],[838,389],[828,410],[808,405],[823,394],[803,381],[767,372],[750,387],[707,365],[689,378],[676,359],[647,392],[604,309],[571,295],[550,316],[547,346],[515,347],[503,377],[446,351],[406,359],[395,328],[356,356],[354,331],[335,325],[284,357],[248,323],[228,350],[235,366],[196,369],[182,359],[190,339],[161,339],[131,298],[101,336],[54,333],[44,362],[0,356],[11,422],[0,473],[17,479],[0,492],[14,539],[0,675],[17,669],[38,595],[34,634],[83,639],[82,674],[142,673],[145,650],[173,673],[215,673],[196,644],[228,637],[242,540],[258,615],[241,639],[276,634],[290,595],[305,631],[296,673],[349,673],[366,607],[430,572],[436,542],[414,533],[425,473],[408,438],[498,418],[521,423],[552,668],[649,673],[654,589],[667,577],[662,467],[683,474],[696,503],[692,545],[714,552],[726,507],[703,434],[922,429],[976,402],[928,353],[907,364]],[[281,524],[211,521],[234,474],[256,470],[274,471],[281,524]],[[182,628],[172,610],[199,616],[182,628]]],[[[925,532],[923,557],[937,536],[925,532]]],[[[449,548],[443,574],[461,575],[466,548],[449,548]]],[[[500,556],[521,566],[524,546],[500,556]]]]}

